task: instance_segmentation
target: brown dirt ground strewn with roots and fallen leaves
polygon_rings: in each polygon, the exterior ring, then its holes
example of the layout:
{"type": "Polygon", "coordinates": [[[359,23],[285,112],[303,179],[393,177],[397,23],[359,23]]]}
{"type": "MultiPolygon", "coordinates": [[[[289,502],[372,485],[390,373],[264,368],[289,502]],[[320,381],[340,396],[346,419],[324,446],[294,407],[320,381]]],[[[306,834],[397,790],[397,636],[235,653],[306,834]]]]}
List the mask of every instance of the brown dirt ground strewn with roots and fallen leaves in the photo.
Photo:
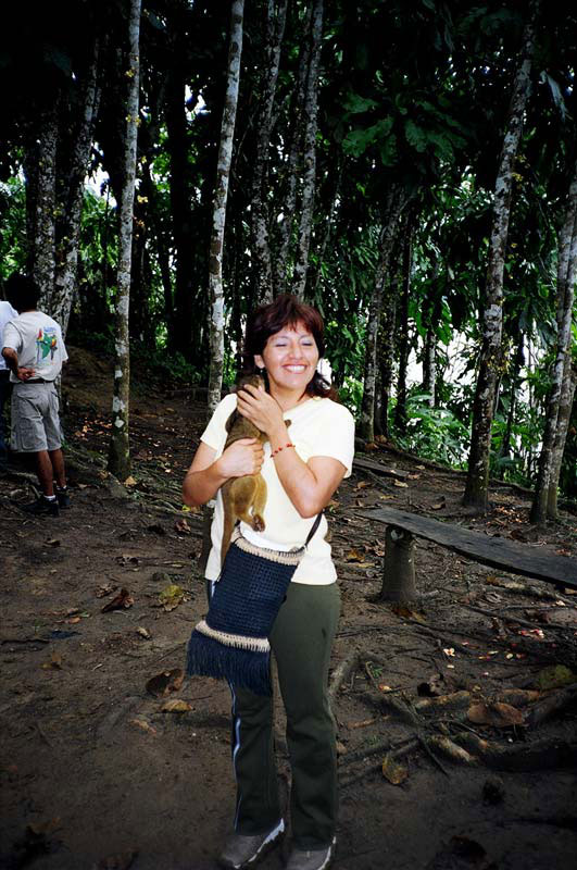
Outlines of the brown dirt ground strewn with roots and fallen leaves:
{"type": "MultiPolygon", "coordinates": [[[[204,409],[137,373],[134,480],[122,486],[104,471],[110,365],[77,348],[71,358],[71,510],[29,518],[18,504],[35,495],[30,469],[1,478],[0,867],[210,870],[234,806],[229,697],[178,672],[205,612],[202,517],[179,495],[204,409]]],[[[537,532],[527,495],[502,485],[473,518],[462,475],[385,447],[369,458],[409,475],[356,468],[328,511],[342,596],[334,688],[344,673],[335,867],[573,870],[575,592],[419,540],[418,599],[391,608],[374,600],[385,526],[356,510],[407,508],[568,559],[577,518],[537,532]]],[[[286,796],[281,710],[277,731],[286,796]]],[[[287,849],[262,867],[279,870],[287,849]]]]}

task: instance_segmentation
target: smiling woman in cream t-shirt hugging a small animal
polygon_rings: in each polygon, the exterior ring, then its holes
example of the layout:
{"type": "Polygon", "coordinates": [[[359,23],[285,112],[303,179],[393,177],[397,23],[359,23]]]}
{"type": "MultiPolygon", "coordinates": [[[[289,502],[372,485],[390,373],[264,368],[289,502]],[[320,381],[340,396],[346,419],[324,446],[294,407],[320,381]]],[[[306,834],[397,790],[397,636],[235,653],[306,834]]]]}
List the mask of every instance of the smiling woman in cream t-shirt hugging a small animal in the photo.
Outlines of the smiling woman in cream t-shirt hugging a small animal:
{"type": "MultiPolygon", "coordinates": [[[[241,523],[242,535],[271,549],[302,547],[337,486],[351,473],[354,451],[352,415],[330,398],[331,388],[316,371],[323,351],[322,318],[296,297],[279,296],[253,312],[244,340],[246,368],[264,375],[267,391],[247,385],[218,405],[186,475],[185,504],[203,505],[230,477],[260,472],[267,486],[265,529],[259,533],[241,523]],[[242,438],[223,452],[225,423],[235,408],[266,433],[264,446],[242,438]]],[[[327,676],[340,599],[326,532],[322,517],[269,636],[292,767],[289,870],[324,870],[336,843],[335,722],[327,676]]],[[[221,570],[222,534],[218,493],[206,566],[210,586],[221,570]]],[[[271,697],[233,688],[233,762],[235,833],[218,860],[222,867],[240,870],[252,867],[285,832],[271,697]]]]}

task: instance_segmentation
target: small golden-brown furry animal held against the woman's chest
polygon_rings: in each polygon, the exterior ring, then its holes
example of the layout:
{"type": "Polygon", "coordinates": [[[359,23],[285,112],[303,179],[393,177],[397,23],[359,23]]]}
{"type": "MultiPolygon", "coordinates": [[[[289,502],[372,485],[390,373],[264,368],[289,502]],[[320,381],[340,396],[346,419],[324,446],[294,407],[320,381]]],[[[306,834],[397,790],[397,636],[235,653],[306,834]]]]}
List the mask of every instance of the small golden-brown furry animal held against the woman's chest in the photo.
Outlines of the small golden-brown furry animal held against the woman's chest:
{"type": "MultiPolygon", "coordinates": [[[[238,385],[238,389],[247,384],[260,387],[264,386],[263,378],[255,374],[244,377],[238,385]]],[[[240,438],[259,438],[261,444],[266,440],[266,434],[256,428],[254,423],[234,410],[226,421],[228,437],[224,449],[226,450],[240,438]]],[[[223,543],[221,545],[221,564],[224,564],[225,556],[230,546],[230,536],[237,520],[254,529],[255,532],[264,532],[264,508],[266,505],[266,483],[262,474],[247,474],[243,477],[230,477],[222,487],[224,505],[224,529],[223,543]]]]}

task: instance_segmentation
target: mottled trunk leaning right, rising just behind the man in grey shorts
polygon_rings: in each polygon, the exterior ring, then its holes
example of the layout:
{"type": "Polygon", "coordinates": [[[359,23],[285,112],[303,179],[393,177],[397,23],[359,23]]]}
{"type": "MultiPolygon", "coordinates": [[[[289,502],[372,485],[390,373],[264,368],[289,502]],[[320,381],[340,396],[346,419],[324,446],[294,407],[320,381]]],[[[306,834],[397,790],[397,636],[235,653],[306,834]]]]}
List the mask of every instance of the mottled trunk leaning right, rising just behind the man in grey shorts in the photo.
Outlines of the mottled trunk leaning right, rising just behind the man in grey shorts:
{"type": "Polygon", "coordinates": [[[60,208],[62,217],[58,225],[59,240],[51,309],[53,316],[60,323],[64,336],[68,328],[71,308],[76,290],[84,182],[90,160],[92,134],[100,104],[101,88],[98,83],[99,49],[99,41],[96,40],[92,61],[86,74],[79,105],[80,123],[74,129],[71,167],[60,208]]]}

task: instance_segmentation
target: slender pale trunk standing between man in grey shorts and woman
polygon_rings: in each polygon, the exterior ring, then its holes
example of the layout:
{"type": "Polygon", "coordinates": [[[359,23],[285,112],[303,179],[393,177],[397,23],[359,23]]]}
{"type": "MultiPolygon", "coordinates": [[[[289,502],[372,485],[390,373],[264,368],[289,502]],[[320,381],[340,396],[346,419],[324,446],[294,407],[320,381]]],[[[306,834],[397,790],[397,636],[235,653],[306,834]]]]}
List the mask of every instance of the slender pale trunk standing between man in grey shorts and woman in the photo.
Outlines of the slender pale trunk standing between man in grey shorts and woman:
{"type": "Polygon", "coordinates": [[[121,197],[118,232],[118,274],[114,328],[114,396],[112,400],[112,435],[109,451],[109,471],[124,481],[130,474],[130,447],[128,420],[130,399],[130,341],[128,322],[130,308],[130,266],[133,253],[133,213],[135,199],[138,98],[140,87],[140,0],[130,0],[128,22],[129,82],[126,100],[126,128],[124,144],[124,185],[121,197]]]}

